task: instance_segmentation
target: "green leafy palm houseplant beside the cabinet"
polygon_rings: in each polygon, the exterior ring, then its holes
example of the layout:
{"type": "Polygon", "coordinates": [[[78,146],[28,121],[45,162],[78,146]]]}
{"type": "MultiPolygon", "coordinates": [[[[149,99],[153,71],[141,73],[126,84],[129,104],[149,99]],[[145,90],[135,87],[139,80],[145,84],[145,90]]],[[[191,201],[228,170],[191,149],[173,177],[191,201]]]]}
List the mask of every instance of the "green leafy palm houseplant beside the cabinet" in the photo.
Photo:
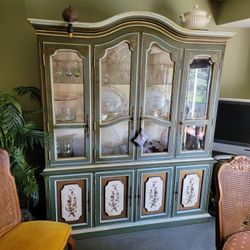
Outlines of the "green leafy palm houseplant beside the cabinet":
{"type": "Polygon", "coordinates": [[[39,199],[36,177],[39,166],[30,161],[29,154],[35,152],[36,147],[43,148],[47,136],[38,125],[27,119],[17,97],[30,94],[30,99],[39,103],[39,92],[33,87],[0,92],[0,148],[10,155],[11,172],[15,177],[21,206],[25,207],[35,205],[39,199]]]}

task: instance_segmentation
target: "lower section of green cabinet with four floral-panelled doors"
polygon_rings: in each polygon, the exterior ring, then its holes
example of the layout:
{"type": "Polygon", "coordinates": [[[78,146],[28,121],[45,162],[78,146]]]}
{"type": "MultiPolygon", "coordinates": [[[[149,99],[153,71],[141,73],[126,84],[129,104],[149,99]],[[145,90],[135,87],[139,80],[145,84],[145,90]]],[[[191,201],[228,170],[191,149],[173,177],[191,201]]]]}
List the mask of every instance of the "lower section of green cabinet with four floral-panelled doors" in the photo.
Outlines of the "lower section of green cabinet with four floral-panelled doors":
{"type": "Polygon", "coordinates": [[[80,238],[202,222],[211,165],[164,166],[47,177],[50,219],[80,238]],[[93,209],[92,209],[93,208],[93,209]]]}

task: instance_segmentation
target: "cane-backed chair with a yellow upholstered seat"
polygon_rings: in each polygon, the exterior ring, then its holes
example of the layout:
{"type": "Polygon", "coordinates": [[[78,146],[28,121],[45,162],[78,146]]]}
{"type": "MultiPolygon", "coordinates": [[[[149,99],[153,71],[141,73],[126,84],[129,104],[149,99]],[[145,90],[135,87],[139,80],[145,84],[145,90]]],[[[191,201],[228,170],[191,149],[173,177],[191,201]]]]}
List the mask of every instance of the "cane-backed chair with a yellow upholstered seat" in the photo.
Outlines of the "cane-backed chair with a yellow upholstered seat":
{"type": "Polygon", "coordinates": [[[15,180],[10,173],[9,155],[0,149],[0,249],[74,249],[71,227],[55,221],[21,222],[15,180]]]}

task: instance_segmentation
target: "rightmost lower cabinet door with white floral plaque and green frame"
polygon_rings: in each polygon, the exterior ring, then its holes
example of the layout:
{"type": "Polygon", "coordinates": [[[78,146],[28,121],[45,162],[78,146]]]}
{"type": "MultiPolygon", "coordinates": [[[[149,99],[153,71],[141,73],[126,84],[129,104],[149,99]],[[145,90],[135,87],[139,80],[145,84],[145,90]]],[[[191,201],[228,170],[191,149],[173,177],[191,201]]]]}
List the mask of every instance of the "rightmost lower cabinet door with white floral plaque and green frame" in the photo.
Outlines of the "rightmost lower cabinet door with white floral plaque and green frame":
{"type": "Polygon", "coordinates": [[[175,215],[206,211],[210,172],[209,165],[176,168],[175,215]]]}

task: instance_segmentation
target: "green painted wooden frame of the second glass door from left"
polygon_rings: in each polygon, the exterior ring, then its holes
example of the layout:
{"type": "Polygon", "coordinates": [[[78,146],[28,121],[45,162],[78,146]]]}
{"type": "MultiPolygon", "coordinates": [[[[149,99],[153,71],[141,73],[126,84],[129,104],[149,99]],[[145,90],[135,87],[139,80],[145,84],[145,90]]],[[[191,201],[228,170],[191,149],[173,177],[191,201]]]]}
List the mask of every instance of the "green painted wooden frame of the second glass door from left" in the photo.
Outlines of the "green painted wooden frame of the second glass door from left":
{"type": "MultiPolygon", "coordinates": [[[[136,128],[136,101],[137,101],[137,95],[136,95],[136,89],[138,85],[138,49],[139,49],[139,34],[138,33],[128,33],[126,35],[119,35],[117,34],[116,38],[114,39],[115,35],[112,34],[112,36],[105,37],[105,40],[102,41],[101,44],[94,46],[94,65],[95,65],[95,91],[94,91],[94,100],[96,100],[96,108],[94,110],[94,117],[96,121],[96,140],[95,140],[95,161],[96,162],[106,162],[106,161],[128,161],[134,159],[134,151],[135,151],[135,145],[132,143],[132,139],[135,134],[135,128],[136,128]],[[130,98],[127,100],[128,102],[128,110],[129,114],[126,116],[122,116],[121,118],[112,120],[110,122],[103,122],[101,121],[101,62],[107,56],[107,53],[116,48],[117,46],[121,44],[127,44],[129,53],[131,53],[131,68],[130,68],[130,83],[129,83],[129,93],[130,98]],[[127,128],[128,128],[128,134],[125,135],[125,139],[128,142],[128,154],[124,155],[108,155],[108,156],[102,156],[101,152],[101,130],[104,128],[112,128],[112,126],[119,124],[119,122],[125,121],[127,122],[127,128]]],[[[119,60],[123,60],[122,58],[117,57],[119,60]]],[[[117,72],[111,72],[111,74],[117,74],[117,72]]],[[[112,77],[109,76],[109,77],[112,77]]],[[[116,85],[112,85],[107,83],[107,86],[109,88],[114,88],[116,85]]],[[[112,101],[112,100],[110,100],[112,101]]],[[[119,131],[117,132],[119,133],[119,131]]],[[[120,131],[120,133],[123,133],[120,131]]],[[[119,134],[120,135],[120,134],[119,134]]],[[[112,134],[112,139],[114,140],[116,135],[115,133],[112,134]]]]}

